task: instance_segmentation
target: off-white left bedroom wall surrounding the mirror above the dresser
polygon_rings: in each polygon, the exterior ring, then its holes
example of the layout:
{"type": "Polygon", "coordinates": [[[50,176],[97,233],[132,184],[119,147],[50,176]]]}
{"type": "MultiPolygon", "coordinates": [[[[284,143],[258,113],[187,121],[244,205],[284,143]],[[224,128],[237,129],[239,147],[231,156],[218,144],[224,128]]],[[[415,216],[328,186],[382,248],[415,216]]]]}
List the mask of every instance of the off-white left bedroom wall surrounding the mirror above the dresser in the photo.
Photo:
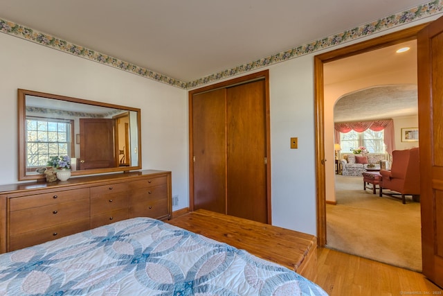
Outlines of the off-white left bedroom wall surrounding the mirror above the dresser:
{"type": "Polygon", "coordinates": [[[142,167],[172,171],[172,194],[188,207],[187,92],[97,62],[0,34],[0,184],[18,182],[17,89],[138,107],[142,167]]]}

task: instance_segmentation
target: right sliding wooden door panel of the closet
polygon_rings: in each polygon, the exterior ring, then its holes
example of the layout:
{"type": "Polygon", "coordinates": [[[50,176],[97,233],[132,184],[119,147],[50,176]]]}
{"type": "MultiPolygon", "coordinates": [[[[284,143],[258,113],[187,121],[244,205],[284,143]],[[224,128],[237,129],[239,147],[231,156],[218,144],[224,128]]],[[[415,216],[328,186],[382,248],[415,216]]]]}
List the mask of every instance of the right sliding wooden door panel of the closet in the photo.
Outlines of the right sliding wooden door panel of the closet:
{"type": "Polygon", "coordinates": [[[268,223],[264,80],[229,87],[226,101],[227,214],[268,223]]]}

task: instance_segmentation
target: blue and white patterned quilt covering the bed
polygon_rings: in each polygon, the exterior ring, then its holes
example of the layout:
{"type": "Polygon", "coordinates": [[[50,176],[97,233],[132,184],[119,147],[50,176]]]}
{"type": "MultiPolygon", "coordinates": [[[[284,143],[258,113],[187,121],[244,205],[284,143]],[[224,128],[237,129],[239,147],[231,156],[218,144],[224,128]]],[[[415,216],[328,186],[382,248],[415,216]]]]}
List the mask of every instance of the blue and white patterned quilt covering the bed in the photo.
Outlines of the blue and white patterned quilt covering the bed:
{"type": "Polygon", "coordinates": [[[0,255],[0,295],[327,295],[296,272],[150,218],[0,255]]]}

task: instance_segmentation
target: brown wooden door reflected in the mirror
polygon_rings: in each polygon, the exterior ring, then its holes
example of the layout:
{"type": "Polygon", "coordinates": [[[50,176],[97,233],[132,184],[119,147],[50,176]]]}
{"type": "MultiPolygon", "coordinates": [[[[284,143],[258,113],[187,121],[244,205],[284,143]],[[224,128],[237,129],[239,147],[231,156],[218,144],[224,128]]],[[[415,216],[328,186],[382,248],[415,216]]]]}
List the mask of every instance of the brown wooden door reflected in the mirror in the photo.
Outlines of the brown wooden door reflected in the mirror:
{"type": "Polygon", "coordinates": [[[112,119],[80,119],[80,170],[113,168],[114,132],[112,119]]]}

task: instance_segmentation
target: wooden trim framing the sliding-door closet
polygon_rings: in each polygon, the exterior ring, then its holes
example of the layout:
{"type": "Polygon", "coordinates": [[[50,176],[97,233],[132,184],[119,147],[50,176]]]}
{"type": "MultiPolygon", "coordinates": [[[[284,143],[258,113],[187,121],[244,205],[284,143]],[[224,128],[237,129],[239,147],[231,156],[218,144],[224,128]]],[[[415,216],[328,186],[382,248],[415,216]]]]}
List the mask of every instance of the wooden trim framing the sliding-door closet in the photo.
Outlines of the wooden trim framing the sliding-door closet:
{"type": "Polygon", "coordinates": [[[264,80],[265,87],[265,116],[266,116],[266,203],[267,203],[267,220],[271,224],[272,211],[271,211],[271,118],[270,118],[270,105],[269,105],[269,70],[259,71],[239,78],[234,78],[231,80],[226,80],[224,82],[219,82],[214,85],[208,85],[207,87],[201,87],[199,89],[193,89],[188,92],[188,106],[189,106],[189,204],[190,211],[194,211],[194,166],[193,166],[193,113],[192,113],[192,97],[195,94],[200,94],[203,92],[210,92],[215,89],[233,87],[235,85],[241,85],[247,82],[252,82],[254,80],[264,80]]]}

